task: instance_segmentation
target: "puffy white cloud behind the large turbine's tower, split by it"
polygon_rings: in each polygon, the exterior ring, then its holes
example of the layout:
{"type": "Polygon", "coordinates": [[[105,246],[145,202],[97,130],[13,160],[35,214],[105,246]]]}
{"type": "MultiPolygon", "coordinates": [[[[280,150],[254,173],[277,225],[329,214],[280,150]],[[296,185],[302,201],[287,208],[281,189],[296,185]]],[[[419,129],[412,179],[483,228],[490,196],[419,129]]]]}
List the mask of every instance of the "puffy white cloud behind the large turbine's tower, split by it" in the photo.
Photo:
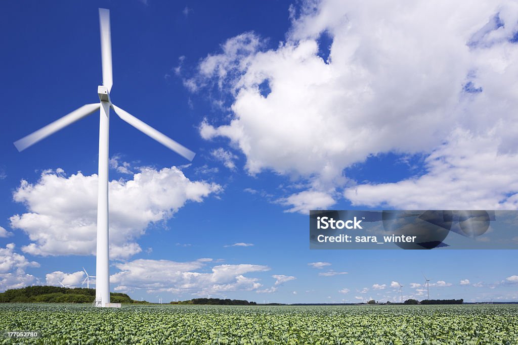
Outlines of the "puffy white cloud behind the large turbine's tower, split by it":
{"type": "MultiPolygon", "coordinates": [[[[111,181],[110,258],[128,258],[141,251],[136,238],[149,224],[167,220],[187,202],[202,202],[221,186],[190,181],[176,167],[160,171],[141,168],[129,181],[111,181]]],[[[40,256],[95,253],[97,175],[80,172],[67,177],[63,170],[45,171],[35,184],[22,181],[14,193],[28,212],[10,218],[31,244],[26,253],[40,256]]]]}

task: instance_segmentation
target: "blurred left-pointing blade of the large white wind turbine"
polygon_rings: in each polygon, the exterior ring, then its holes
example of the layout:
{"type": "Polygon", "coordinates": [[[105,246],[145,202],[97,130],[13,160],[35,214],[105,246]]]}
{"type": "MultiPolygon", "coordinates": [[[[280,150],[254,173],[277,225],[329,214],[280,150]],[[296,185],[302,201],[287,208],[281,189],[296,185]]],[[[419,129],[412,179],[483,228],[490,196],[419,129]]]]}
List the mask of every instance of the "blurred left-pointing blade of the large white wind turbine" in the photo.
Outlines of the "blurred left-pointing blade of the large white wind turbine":
{"type": "Polygon", "coordinates": [[[36,144],[38,141],[47,138],[51,134],[59,131],[60,129],[65,128],[66,126],[80,120],[81,118],[90,115],[94,111],[100,108],[99,103],[85,104],[79,109],[74,110],[73,112],[57,119],[51,124],[38,129],[34,133],[29,134],[22,139],[15,141],[15,146],[18,151],[23,151],[27,147],[36,144]]]}

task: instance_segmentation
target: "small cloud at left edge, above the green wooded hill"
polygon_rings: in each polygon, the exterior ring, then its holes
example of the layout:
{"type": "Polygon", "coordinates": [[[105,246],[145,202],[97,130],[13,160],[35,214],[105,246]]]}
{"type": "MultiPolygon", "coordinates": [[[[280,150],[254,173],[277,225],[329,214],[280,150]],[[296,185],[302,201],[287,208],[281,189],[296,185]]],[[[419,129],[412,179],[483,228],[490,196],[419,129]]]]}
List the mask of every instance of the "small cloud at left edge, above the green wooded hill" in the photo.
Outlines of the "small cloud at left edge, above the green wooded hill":
{"type": "Polygon", "coordinates": [[[26,268],[39,267],[39,263],[27,260],[15,252],[15,244],[0,248],[0,291],[18,289],[35,281],[33,275],[25,273],[26,268]]]}

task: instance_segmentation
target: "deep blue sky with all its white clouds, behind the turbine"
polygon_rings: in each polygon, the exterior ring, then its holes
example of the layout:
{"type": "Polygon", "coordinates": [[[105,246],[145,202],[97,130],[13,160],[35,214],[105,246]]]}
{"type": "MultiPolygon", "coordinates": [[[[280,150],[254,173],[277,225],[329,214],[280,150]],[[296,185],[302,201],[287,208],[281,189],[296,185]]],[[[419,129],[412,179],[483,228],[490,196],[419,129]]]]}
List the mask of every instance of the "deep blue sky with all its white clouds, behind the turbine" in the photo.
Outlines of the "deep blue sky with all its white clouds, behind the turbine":
{"type": "Polygon", "coordinates": [[[97,8],[114,104],[197,153],[110,121],[111,289],[164,301],[516,301],[512,250],[309,250],[309,209],[516,209],[512,2],[9,2],[0,289],[95,269],[97,8]],[[397,8],[397,9],[396,9],[397,8]],[[383,19],[383,20],[382,20],[383,19]],[[498,19],[498,20],[497,20],[498,19]]]}

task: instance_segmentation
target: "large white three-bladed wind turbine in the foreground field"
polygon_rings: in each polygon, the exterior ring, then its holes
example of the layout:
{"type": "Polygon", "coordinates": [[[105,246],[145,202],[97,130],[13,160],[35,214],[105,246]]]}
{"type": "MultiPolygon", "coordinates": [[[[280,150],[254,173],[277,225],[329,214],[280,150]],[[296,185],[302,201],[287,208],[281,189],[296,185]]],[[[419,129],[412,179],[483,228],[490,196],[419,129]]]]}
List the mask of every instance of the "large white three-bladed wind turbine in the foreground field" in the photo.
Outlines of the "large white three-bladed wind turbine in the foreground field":
{"type": "Polygon", "coordinates": [[[108,230],[108,147],[109,147],[109,119],[112,108],[123,121],[137,128],[149,137],[170,148],[180,156],[192,160],[195,153],[166,137],[161,132],[143,123],[130,113],[122,110],[111,102],[110,91],[113,84],[111,61],[111,31],[110,11],[99,8],[100,48],[103,65],[103,86],[97,86],[97,95],[100,102],[85,104],[73,112],[57,119],[53,123],[38,129],[14,144],[18,151],[47,138],[51,134],[66,126],[100,110],[99,121],[99,171],[97,194],[97,250],[95,266],[95,305],[106,307],[110,303],[110,274],[109,274],[109,230],[108,230]]]}

